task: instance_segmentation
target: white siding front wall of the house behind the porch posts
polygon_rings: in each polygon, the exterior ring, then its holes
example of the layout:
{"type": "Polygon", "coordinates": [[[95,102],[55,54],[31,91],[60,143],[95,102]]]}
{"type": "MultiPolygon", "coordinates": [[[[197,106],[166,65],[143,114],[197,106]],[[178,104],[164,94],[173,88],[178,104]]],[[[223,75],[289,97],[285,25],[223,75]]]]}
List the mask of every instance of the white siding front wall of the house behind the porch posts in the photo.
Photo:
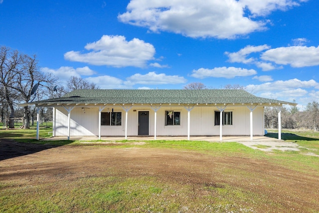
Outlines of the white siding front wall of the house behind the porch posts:
{"type": "MultiPolygon", "coordinates": [[[[68,114],[63,107],[56,108],[56,136],[67,135],[68,114]]],[[[124,136],[126,112],[121,107],[113,107],[114,112],[122,112],[121,126],[101,126],[102,136],[124,136]]],[[[105,109],[103,112],[112,109],[105,109]]],[[[139,111],[149,111],[149,135],[154,135],[155,112],[149,106],[134,106],[128,112],[128,135],[138,135],[139,111]]],[[[190,135],[219,135],[219,126],[214,125],[215,107],[197,107],[190,111],[190,135]]],[[[250,135],[250,110],[247,107],[227,107],[225,111],[233,112],[233,125],[222,127],[223,135],[250,135]]],[[[187,110],[182,106],[161,107],[157,112],[157,135],[187,135],[187,110]],[[165,126],[165,111],[179,111],[180,125],[165,126]]],[[[74,108],[71,111],[71,136],[98,135],[99,110],[97,107],[74,108]]],[[[253,111],[253,134],[264,134],[264,108],[253,111]]]]}

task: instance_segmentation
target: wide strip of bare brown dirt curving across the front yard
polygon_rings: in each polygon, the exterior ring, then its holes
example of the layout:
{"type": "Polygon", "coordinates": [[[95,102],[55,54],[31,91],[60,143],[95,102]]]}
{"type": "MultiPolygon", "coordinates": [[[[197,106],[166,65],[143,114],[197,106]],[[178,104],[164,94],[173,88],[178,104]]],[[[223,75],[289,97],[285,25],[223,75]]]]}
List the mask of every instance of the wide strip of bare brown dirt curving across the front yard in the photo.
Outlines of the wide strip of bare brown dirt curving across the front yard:
{"type": "MultiPolygon", "coordinates": [[[[87,177],[152,177],[176,190],[188,186],[187,198],[171,195],[178,202],[191,202],[191,196],[207,199],[231,187],[239,189],[241,196],[247,193],[259,200],[253,204],[249,199],[230,198],[252,212],[319,211],[317,174],[292,171],[263,160],[175,149],[110,148],[102,144],[53,147],[4,140],[0,144],[2,186],[14,183],[27,187],[62,180],[71,183],[87,177]]],[[[192,211],[196,210],[189,210],[192,211]]]]}

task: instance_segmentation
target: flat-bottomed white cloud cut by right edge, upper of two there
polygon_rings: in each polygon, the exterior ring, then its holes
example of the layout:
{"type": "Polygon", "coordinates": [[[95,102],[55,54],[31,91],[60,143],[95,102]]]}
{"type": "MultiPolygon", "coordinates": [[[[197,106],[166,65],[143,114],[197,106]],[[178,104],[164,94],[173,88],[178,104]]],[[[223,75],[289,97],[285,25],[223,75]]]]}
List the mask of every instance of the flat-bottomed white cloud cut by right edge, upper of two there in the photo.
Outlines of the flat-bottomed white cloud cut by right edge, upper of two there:
{"type": "Polygon", "coordinates": [[[319,65],[319,46],[289,46],[269,49],[261,56],[263,60],[292,67],[319,65]]]}

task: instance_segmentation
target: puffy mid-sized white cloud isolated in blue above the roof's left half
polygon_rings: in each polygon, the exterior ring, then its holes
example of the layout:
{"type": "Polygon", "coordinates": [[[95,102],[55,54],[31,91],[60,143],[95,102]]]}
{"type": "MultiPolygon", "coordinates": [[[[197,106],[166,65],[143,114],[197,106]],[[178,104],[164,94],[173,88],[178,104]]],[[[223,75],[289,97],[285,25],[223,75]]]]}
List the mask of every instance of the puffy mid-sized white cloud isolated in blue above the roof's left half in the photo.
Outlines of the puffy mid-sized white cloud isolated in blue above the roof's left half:
{"type": "Polygon", "coordinates": [[[93,65],[145,67],[155,54],[152,44],[138,38],[127,41],[121,35],[103,35],[100,40],[88,43],[85,49],[92,51],[69,51],[64,54],[64,58],[93,65]]]}

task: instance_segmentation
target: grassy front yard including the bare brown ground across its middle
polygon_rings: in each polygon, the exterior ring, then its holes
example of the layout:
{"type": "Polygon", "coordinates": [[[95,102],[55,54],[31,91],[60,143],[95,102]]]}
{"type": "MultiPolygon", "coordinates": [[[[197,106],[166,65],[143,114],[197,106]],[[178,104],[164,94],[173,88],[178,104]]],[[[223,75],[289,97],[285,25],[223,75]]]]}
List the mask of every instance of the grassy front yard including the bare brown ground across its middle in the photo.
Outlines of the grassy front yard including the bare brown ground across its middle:
{"type": "MultiPolygon", "coordinates": [[[[40,137],[50,131],[41,126],[40,137]]],[[[318,213],[319,133],[283,132],[300,151],[235,142],[50,142],[60,147],[0,161],[0,212],[318,213]]],[[[35,129],[0,130],[0,138],[42,143],[35,129]]]]}

